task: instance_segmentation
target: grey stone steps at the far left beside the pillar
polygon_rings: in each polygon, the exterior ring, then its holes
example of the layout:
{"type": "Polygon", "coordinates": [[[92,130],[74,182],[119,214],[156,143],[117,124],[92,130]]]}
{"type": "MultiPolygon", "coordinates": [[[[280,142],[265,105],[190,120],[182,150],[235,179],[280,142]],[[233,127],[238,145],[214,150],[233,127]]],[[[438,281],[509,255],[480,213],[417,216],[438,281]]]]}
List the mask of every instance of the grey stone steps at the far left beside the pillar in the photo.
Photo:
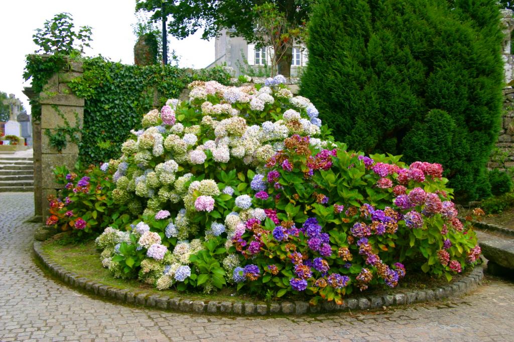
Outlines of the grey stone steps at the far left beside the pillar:
{"type": "Polygon", "coordinates": [[[0,192],[34,191],[32,157],[0,154],[0,192]]]}

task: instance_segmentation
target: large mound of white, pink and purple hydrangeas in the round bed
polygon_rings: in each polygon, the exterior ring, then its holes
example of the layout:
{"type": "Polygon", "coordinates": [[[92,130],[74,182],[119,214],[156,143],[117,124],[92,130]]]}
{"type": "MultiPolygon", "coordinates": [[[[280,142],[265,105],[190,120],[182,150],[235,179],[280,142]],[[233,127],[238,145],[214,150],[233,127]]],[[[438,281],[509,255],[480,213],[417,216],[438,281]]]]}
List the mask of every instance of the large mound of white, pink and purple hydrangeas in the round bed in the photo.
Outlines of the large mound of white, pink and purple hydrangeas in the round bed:
{"type": "Polygon", "coordinates": [[[108,166],[134,222],[97,238],[105,267],[161,290],[342,303],[411,270],[450,280],[476,263],[440,165],[346,151],[284,81],[193,82],[188,102],[144,115],[108,166]]]}

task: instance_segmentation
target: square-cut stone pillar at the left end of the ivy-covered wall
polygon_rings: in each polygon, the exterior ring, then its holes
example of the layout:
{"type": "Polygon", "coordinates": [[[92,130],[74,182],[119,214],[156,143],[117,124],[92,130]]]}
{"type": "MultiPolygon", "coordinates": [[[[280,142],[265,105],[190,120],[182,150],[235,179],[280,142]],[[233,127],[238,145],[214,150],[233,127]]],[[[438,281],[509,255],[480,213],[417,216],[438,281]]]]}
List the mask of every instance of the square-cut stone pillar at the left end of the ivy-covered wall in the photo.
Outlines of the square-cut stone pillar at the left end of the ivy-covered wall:
{"type": "MultiPolygon", "coordinates": [[[[71,79],[79,77],[82,72],[81,63],[70,63],[66,69],[53,75],[44,87],[43,92],[39,94],[41,122],[34,122],[32,126],[34,202],[35,215],[42,215],[43,222],[45,222],[48,213],[48,195],[56,195],[57,191],[63,187],[63,185],[54,182],[54,168],[64,165],[71,170],[79,156],[79,147],[75,143],[68,142],[66,148],[62,151],[52,148],[45,131],[53,132],[59,127],[65,127],[64,118],[71,127],[75,127],[77,123],[75,113],[78,114],[79,122],[82,125],[84,99],[72,95],[67,85],[71,79]]],[[[27,96],[29,95],[27,94],[27,96]]],[[[80,126],[80,128],[82,127],[80,126]]]]}

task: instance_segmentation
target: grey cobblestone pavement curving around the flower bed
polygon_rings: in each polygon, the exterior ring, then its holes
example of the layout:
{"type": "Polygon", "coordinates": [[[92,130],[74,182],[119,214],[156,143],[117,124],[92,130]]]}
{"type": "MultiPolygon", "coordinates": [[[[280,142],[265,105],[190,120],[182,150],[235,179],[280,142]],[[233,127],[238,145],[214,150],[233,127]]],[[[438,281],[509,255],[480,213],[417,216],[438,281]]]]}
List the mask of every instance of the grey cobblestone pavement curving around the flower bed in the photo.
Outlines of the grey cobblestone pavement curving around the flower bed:
{"type": "Polygon", "coordinates": [[[0,193],[0,341],[514,341],[514,284],[489,278],[463,298],[388,311],[222,317],[112,304],[34,265],[31,193],[0,193]]]}

